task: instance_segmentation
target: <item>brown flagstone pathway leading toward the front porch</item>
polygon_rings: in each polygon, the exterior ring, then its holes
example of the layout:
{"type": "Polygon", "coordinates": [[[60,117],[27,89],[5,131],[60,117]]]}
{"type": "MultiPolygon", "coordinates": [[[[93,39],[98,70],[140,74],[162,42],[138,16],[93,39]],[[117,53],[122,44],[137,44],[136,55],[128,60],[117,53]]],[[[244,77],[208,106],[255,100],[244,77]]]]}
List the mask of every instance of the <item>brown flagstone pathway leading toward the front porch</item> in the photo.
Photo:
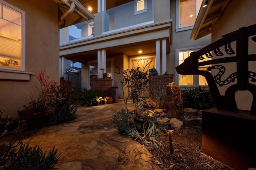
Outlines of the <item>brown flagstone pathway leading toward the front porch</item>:
{"type": "Polygon", "coordinates": [[[112,115],[124,107],[120,100],[78,107],[74,121],[26,132],[22,141],[44,151],[58,148],[60,170],[160,170],[145,147],[118,133],[112,115]]]}

